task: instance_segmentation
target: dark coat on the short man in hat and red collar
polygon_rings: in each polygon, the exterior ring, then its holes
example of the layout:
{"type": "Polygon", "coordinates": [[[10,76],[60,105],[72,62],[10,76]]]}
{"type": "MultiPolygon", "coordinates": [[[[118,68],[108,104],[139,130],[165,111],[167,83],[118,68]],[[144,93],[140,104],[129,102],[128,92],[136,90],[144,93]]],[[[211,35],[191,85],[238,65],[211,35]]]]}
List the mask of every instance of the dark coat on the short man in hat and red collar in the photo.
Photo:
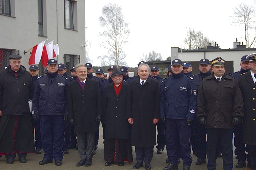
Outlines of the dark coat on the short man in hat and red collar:
{"type": "MultiPolygon", "coordinates": [[[[119,85],[120,86],[120,85],[119,85]]],[[[105,138],[130,139],[130,124],[126,119],[126,101],[129,84],[122,84],[121,90],[116,96],[114,84],[111,83],[103,90],[103,119],[105,122],[105,138]]]]}

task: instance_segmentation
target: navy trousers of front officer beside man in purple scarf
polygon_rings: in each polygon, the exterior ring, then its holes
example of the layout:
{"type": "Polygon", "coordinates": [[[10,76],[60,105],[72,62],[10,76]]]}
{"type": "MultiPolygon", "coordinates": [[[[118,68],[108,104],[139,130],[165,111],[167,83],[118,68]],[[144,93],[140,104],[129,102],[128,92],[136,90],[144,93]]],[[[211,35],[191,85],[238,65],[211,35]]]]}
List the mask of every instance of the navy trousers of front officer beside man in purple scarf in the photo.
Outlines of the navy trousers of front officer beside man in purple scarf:
{"type": "Polygon", "coordinates": [[[62,160],[65,131],[63,115],[41,115],[40,130],[44,159],[62,160]]]}

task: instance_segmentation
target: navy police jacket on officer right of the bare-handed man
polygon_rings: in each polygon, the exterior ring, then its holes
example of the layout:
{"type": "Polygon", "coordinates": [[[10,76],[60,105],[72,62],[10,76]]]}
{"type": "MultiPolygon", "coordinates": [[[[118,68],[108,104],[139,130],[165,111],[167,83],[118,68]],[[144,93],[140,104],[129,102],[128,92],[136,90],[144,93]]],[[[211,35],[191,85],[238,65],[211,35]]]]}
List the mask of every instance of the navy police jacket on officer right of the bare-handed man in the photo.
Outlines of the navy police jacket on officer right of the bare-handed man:
{"type": "Polygon", "coordinates": [[[193,78],[184,75],[184,71],[172,73],[161,83],[161,118],[194,120],[196,109],[197,88],[193,78]]]}

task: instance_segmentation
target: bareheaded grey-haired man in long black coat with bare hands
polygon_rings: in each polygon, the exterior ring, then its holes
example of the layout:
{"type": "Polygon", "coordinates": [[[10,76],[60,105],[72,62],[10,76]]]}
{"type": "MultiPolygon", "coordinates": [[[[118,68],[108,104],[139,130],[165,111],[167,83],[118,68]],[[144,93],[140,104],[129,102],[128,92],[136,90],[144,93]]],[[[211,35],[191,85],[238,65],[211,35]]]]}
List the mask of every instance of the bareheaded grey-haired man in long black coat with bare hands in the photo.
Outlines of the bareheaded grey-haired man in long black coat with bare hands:
{"type": "Polygon", "coordinates": [[[157,80],[148,78],[149,66],[141,63],[137,79],[130,81],[126,118],[132,124],[131,145],[135,146],[137,164],[133,169],[151,169],[156,144],[156,123],[160,117],[160,87],[157,80]]]}

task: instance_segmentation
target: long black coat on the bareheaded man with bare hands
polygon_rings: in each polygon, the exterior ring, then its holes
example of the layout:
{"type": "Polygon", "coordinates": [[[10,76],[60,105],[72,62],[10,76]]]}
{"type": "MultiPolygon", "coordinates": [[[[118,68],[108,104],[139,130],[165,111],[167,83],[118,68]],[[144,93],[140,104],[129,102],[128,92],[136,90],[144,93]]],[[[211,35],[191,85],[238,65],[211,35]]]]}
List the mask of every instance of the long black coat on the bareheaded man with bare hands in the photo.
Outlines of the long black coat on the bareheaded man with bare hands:
{"type": "Polygon", "coordinates": [[[161,93],[159,82],[147,78],[143,86],[140,78],[130,81],[126,118],[133,118],[131,145],[149,147],[156,144],[156,124],[160,117],[161,93]]]}

